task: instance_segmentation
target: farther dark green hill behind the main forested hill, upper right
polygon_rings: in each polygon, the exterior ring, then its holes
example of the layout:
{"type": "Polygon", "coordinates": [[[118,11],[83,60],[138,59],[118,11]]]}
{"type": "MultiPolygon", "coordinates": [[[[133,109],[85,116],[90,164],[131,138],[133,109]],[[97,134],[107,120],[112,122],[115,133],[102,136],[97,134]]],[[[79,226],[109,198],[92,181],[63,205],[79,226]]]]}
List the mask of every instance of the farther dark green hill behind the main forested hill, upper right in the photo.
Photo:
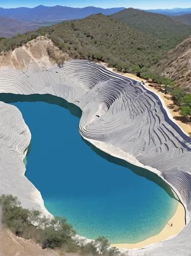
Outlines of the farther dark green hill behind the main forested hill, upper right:
{"type": "Polygon", "coordinates": [[[112,14],[111,17],[122,20],[129,26],[152,36],[153,39],[160,40],[163,50],[174,48],[191,35],[190,26],[157,13],[128,8],[112,14]]]}

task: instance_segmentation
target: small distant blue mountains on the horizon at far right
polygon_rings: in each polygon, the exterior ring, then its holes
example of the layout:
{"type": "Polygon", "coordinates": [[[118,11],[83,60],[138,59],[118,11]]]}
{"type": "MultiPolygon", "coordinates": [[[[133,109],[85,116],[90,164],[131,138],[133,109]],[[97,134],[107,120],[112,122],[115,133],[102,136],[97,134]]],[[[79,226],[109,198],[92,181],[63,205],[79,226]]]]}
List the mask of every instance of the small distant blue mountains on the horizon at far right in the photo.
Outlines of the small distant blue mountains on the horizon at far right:
{"type": "Polygon", "coordinates": [[[156,9],[156,10],[144,10],[144,11],[164,14],[167,16],[179,16],[179,15],[191,13],[191,8],[156,9]]]}

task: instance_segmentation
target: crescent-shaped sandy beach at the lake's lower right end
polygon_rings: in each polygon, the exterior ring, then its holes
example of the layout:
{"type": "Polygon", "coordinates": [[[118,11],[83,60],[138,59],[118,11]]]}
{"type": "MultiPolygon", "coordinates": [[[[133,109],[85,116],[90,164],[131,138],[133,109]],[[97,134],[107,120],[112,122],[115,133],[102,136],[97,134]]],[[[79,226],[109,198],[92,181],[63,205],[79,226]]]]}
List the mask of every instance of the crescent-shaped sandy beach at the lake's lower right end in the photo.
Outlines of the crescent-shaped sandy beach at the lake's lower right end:
{"type": "Polygon", "coordinates": [[[112,244],[112,246],[122,249],[135,249],[143,248],[148,245],[152,245],[162,240],[168,239],[169,237],[178,234],[181,229],[185,226],[185,209],[181,203],[178,204],[175,215],[172,219],[165,225],[162,231],[154,237],[148,238],[142,242],[136,244],[112,244]],[[171,223],[173,226],[171,227],[171,223]]]}

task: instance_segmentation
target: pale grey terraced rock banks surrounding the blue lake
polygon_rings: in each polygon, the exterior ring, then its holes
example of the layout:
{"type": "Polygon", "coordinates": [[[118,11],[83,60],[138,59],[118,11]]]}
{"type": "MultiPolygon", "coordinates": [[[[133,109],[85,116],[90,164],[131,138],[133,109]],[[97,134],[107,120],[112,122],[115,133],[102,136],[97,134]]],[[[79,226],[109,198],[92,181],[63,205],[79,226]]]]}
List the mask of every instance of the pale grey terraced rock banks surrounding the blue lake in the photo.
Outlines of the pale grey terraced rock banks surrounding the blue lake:
{"type": "MultiPolygon", "coordinates": [[[[174,238],[128,255],[189,255],[191,250],[191,139],[159,98],[140,82],[95,63],[71,60],[47,70],[0,70],[0,93],[54,95],[82,110],[79,131],[100,150],[144,167],[165,180],[186,210],[186,227],[174,238]]],[[[25,177],[31,134],[21,113],[0,102],[0,193],[49,214],[25,177]]]]}

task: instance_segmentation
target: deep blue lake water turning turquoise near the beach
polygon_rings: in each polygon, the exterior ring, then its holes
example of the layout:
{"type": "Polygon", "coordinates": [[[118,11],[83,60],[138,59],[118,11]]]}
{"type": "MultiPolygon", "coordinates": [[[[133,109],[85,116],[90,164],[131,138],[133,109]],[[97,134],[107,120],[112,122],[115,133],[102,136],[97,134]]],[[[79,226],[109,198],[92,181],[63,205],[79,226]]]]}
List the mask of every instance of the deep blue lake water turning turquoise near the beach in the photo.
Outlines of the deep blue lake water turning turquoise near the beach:
{"type": "MultiPolygon", "coordinates": [[[[178,202],[161,179],[152,178],[159,186],[113,163],[117,159],[99,156],[82,140],[79,118],[67,109],[46,102],[13,104],[32,134],[26,176],[41,192],[45,207],[66,217],[78,234],[136,243],[159,233],[174,215],[178,202]]],[[[145,177],[151,174],[133,168],[145,177]]]]}

